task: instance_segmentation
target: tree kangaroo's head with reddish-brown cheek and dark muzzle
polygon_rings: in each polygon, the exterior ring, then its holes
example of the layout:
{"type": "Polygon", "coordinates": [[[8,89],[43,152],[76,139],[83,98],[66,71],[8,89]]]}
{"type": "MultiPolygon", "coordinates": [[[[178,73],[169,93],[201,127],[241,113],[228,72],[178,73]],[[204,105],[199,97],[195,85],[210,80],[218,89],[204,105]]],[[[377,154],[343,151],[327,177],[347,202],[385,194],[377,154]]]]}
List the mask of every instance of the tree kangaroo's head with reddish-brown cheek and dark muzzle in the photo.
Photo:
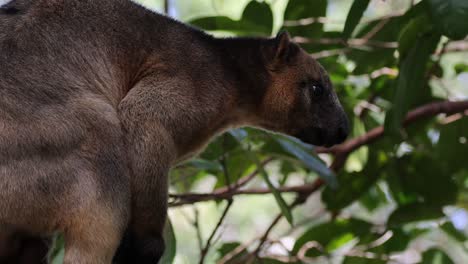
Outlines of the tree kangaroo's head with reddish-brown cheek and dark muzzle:
{"type": "Polygon", "coordinates": [[[261,126],[319,146],[348,136],[348,118],[327,72],[307,52],[280,33],[264,48],[270,75],[260,107],[261,126]]]}

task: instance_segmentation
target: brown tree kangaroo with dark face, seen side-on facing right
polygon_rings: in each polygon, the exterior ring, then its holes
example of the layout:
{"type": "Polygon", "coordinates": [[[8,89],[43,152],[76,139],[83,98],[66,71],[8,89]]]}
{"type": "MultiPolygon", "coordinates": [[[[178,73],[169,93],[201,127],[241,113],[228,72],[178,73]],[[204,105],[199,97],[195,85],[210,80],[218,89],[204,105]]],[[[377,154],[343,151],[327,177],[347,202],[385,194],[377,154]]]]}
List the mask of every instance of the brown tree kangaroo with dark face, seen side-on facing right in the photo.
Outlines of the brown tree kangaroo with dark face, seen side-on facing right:
{"type": "Polygon", "coordinates": [[[259,127],[331,146],[348,120],[287,33],[215,38],[130,0],[0,7],[0,263],[157,263],[168,171],[259,127]]]}

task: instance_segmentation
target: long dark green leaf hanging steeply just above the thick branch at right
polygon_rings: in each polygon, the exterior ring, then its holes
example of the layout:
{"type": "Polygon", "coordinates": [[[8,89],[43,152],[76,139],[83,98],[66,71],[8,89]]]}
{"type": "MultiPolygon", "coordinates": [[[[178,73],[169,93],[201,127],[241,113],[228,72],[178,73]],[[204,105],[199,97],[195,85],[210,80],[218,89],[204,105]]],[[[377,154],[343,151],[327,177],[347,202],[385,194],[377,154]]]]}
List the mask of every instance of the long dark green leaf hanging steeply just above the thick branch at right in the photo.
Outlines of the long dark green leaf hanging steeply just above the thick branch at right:
{"type": "Polygon", "coordinates": [[[385,130],[394,135],[400,128],[410,105],[421,93],[426,83],[426,64],[439,43],[440,35],[427,33],[416,40],[408,55],[403,58],[398,76],[392,108],[385,119],[385,130]]]}

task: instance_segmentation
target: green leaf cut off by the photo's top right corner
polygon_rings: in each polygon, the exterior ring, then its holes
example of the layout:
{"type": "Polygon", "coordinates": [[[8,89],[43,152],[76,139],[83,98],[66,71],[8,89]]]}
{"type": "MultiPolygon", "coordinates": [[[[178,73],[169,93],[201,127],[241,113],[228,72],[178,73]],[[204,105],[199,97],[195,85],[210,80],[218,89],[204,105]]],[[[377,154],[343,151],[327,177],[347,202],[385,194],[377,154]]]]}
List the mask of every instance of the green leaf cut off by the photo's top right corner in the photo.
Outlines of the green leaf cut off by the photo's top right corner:
{"type": "Polygon", "coordinates": [[[437,28],[451,39],[463,39],[468,34],[468,1],[427,0],[437,28]]]}

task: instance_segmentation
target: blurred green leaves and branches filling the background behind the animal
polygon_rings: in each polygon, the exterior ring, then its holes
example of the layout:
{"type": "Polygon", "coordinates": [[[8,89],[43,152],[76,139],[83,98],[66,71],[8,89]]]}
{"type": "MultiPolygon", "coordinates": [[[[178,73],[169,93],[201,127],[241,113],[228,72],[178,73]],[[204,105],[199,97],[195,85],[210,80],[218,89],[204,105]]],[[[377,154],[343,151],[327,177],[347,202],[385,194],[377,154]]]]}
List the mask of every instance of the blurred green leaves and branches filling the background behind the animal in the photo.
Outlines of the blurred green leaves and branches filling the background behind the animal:
{"type": "Polygon", "coordinates": [[[172,170],[162,263],[468,263],[468,1],[139,2],[216,36],[289,31],[353,127],[332,149],[219,136],[172,170]]]}

